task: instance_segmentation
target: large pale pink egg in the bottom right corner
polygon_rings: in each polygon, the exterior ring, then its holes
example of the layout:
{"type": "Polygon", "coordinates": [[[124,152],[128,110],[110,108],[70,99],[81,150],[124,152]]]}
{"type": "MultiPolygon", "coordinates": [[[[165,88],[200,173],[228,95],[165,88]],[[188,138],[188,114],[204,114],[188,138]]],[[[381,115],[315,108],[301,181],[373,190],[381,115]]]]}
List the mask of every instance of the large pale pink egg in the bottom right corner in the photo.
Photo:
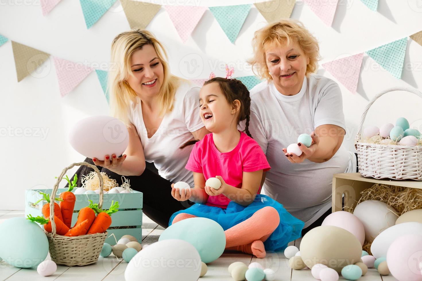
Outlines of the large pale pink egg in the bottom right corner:
{"type": "Polygon", "coordinates": [[[387,265],[398,281],[422,281],[422,236],[408,234],[395,239],[387,251],[387,265]]]}

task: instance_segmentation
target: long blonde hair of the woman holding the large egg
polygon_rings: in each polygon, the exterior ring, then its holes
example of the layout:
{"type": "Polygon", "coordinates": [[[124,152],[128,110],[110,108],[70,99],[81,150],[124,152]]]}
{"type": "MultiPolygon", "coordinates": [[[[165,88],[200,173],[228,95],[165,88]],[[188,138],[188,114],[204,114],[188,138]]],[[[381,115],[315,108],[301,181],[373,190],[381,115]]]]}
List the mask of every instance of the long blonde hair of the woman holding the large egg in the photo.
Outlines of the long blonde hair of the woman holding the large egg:
{"type": "Polygon", "coordinates": [[[111,43],[111,70],[108,72],[108,89],[110,90],[110,113],[115,118],[129,124],[130,102],[136,102],[136,93],[126,79],[134,77],[130,68],[130,58],[135,51],[145,45],[152,45],[162,63],[164,80],[158,92],[160,115],[173,110],[174,94],[182,78],[170,73],[167,53],[164,46],[154,35],[145,29],[131,29],[117,35],[111,43]]]}

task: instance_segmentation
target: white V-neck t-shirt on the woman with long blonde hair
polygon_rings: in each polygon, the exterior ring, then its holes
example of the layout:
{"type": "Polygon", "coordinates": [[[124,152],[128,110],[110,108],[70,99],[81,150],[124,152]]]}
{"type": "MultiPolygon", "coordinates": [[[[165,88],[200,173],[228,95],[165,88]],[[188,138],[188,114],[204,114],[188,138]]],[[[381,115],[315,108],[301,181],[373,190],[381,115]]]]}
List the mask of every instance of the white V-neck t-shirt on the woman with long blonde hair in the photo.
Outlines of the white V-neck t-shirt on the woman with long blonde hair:
{"type": "MultiPolygon", "coordinates": [[[[174,96],[173,110],[164,115],[160,127],[148,138],[142,117],[141,99],[132,103],[129,120],[141,138],[145,160],[154,162],[161,177],[170,182],[194,186],[192,171],[185,169],[193,145],[179,147],[192,140],[192,132],[204,126],[200,118],[199,87],[182,81],[174,96]]],[[[169,191],[170,192],[170,191],[169,191]]]]}

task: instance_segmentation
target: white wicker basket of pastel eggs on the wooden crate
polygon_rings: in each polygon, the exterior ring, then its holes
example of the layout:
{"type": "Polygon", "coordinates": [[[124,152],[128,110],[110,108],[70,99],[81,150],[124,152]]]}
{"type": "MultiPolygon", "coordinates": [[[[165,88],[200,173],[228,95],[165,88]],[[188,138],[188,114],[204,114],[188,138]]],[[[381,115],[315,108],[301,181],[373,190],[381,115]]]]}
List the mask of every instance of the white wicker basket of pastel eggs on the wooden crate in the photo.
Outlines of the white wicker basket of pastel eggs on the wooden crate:
{"type": "Polygon", "coordinates": [[[413,88],[394,87],[377,94],[365,108],[355,138],[358,166],[363,177],[376,179],[422,180],[422,146],[380,145],[361,142],[363,122],[371,105],[380,96],[392,91],[408,91],[422,98],[422,93],[413,88]]]}

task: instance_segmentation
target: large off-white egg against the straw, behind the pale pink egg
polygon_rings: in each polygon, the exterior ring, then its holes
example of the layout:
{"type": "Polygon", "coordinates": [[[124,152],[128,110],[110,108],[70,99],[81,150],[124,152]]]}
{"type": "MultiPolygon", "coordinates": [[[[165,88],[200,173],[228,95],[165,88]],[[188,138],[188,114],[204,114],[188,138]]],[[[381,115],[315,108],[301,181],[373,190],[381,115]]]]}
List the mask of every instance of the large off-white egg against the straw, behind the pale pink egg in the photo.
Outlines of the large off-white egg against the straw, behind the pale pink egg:
{"type": "Polygon", "coordinates": [[[365,241],[373,241],[379,233],[395,225],[398,218],[395,209],[377,200],[367,200],[357,204],[353,214],[365,228],[365,241]]]}

